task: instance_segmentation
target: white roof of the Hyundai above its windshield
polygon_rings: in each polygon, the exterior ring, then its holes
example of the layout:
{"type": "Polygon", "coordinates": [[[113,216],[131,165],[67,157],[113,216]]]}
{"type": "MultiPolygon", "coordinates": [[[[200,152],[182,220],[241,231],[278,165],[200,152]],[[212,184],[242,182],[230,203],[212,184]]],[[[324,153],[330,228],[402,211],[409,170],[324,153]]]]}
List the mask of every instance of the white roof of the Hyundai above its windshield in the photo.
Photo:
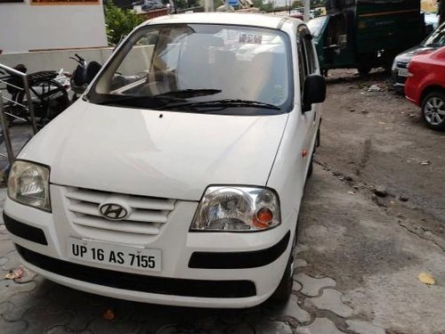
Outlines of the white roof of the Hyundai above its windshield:
{"type": "MultiPolygon", "coordinates": [[[[166,15],[146,21],[143,25],[174,23],[206,23],[254,26],[259,28],[280,29],[288,17],[271,14],[246,12],[194,12],[166,15]]],[[[301,21],[303,23],[303,21],[301,21]]]]}

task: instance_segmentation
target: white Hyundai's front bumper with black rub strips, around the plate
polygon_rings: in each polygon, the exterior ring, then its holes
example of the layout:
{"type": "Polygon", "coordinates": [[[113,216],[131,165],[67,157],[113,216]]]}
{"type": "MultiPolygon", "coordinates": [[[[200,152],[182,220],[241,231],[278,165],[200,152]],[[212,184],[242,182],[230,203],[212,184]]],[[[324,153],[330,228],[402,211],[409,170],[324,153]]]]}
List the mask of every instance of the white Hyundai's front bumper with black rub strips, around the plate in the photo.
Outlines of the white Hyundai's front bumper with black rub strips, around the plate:
{"type": "Polygon", "coordinates": [[[161,249],[161,272],[67,257],[67,238],[85,236],[69,219],[62,219],[57,207],[49,214],[8,199],[4,220],[25,265],[74,289],[163,305],[238,308],[263,303],[286,268],[293,237],[289,226],[281,224],[269,232],[191,233],[196,207],[193,202],[179,204],[163,232],[147,245],[161,249]]]}

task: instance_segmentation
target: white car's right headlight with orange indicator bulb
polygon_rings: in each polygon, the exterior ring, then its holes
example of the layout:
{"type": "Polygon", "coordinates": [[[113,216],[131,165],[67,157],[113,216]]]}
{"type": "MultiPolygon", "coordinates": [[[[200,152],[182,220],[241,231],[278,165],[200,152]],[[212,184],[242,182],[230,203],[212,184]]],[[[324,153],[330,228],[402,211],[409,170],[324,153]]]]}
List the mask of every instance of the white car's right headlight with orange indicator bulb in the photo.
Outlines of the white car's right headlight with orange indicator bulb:
{"type": "Polygon", "coordinates": [[[266,188],[211,186],[190,231],[255,232],[281,223],[278,195],[266,188]]]}

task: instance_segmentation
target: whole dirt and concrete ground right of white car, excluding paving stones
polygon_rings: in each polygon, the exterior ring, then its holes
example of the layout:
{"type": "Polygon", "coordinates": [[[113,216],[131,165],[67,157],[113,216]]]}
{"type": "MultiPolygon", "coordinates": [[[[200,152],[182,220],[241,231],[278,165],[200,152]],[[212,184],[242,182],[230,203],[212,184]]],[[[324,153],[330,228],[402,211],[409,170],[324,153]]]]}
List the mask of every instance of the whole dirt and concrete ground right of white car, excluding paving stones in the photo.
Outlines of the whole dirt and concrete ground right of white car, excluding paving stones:
{"type": "Polygon", "coordinates": [[[300,224],[305,272],[334,278],[354,314],[387,333],[445,333],[445,133],[383,72],[333,70],[327,81],[321,168],[300,224]]]}

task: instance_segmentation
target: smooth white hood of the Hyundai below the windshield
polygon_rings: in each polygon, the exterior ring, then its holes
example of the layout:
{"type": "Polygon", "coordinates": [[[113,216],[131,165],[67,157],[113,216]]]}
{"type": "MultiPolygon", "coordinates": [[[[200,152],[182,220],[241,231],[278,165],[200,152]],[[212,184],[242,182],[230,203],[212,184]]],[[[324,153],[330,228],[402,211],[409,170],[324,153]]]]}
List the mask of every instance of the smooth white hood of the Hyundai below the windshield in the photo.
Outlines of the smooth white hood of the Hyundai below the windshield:
{"type": "Polygon", "coordinates": [[[265,185],[287,114],[227,116],[78,101],[19,159],[51,167],[51,183],[182,200],[209,184],[265,185]]]}

